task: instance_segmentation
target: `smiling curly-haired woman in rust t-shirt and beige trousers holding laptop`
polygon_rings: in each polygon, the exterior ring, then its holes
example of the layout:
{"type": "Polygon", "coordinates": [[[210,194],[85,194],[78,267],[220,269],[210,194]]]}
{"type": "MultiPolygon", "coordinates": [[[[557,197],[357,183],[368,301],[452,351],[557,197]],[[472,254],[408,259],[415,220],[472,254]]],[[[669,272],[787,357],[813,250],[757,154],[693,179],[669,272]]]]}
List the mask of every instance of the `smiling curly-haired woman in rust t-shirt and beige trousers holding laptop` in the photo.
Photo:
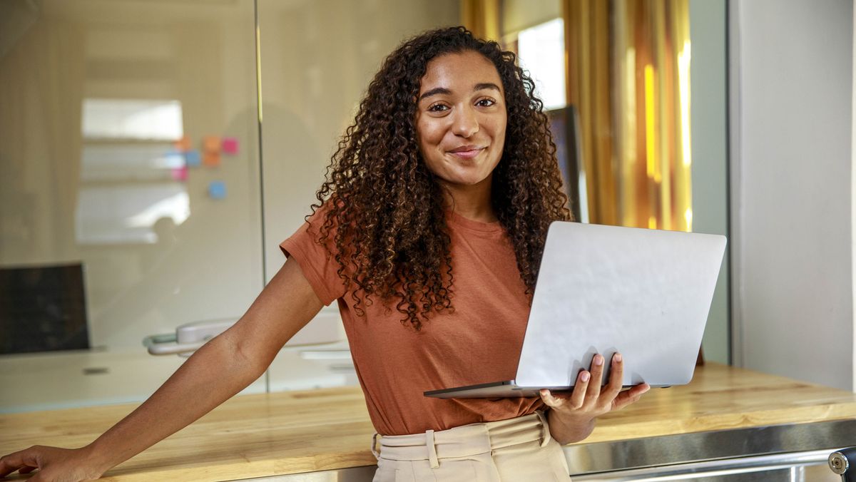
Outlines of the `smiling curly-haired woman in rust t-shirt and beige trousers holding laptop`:
{"type": "Polygon", "coordinates": [[[570,217],[533,89],[514,54],[462,27],[402,44],[369,85],[306,225],[283,241],[288,260],[238,323],[94,442],[6,455],[0,476],[100,477],[259,378],[337,301],[382,434],[375,480],[567,480],[559,443],[648,390],[621,392],[621,355],[597,355],[570,394],[422,395],[514,378],[547,228],[570,217]]]}

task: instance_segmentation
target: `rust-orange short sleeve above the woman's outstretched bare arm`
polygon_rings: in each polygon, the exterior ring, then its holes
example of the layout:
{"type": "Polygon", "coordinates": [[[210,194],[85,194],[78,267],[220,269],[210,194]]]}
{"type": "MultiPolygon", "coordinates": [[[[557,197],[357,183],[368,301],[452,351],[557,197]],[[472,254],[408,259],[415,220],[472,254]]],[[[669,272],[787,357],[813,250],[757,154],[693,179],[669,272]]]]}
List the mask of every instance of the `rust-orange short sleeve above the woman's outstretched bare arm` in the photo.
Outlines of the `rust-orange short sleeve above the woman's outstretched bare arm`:
{"type": "Polygon", "coordinates": [[[330,305],[345,294],[345,283],[339,277],[339,263],[335,255],[318,241],[318,226],[324,223],[323,212],[318,210],[312,214],[309,220],[300,226],[294,235],[282,241],[279,247],[286,257],[297,261],[318,299],[324,305],[330,305]]]}

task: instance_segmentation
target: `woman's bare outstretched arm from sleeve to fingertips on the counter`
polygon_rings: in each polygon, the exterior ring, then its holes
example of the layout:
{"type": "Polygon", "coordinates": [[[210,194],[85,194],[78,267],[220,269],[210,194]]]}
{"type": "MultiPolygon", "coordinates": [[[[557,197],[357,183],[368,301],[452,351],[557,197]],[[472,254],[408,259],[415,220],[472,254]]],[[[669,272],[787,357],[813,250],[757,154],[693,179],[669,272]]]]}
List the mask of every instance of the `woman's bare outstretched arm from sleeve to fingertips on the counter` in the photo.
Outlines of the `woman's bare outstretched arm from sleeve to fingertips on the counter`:
{"type": "Polygon", "coordinates": [[[101,437],[80,449],[36,445],[6,455],[0,459],[0,477],[39,468],[31,482],[98,479],[253,383],[322,306],[300,266],[288,259],[235,325],[199,348],[101,437]]]}

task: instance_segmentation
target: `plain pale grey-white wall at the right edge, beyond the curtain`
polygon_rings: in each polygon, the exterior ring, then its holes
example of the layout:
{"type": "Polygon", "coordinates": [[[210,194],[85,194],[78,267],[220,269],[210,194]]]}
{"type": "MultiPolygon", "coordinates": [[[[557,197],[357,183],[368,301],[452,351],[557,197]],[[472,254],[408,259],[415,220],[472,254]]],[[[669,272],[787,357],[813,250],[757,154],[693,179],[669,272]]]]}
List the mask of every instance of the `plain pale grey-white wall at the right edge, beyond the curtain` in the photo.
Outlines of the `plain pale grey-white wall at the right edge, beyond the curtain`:
{"type": "Polygon", "coordinates": [[[853,3],[729,3],[734,355],[853,388],[853,3]]]}

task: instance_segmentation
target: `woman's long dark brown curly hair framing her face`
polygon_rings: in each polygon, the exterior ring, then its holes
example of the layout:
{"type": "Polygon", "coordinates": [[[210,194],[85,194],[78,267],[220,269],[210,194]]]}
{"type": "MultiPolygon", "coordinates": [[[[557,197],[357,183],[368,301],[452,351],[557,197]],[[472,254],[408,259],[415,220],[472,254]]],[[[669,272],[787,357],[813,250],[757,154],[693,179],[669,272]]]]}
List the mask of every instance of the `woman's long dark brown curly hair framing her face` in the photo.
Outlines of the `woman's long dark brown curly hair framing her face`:
{"type": "Polygon", "coordinates": [[[544,104],[514,53],[464,27],[409,39],[386,57],[369,84],[318,189],[320,204],[312,205],[313,214],[324,205],[318,241],[335,256],[360,316],[372,295],[397,301],[401,322],[415,330],[431,312],[454,309],[442,187],[419,153],[415,118],[428,62],[462,51],[490,60],[505,90],[508,125],[491,204],[514,247],[527,295],[550,223],[571,218],[544,104]]]}

